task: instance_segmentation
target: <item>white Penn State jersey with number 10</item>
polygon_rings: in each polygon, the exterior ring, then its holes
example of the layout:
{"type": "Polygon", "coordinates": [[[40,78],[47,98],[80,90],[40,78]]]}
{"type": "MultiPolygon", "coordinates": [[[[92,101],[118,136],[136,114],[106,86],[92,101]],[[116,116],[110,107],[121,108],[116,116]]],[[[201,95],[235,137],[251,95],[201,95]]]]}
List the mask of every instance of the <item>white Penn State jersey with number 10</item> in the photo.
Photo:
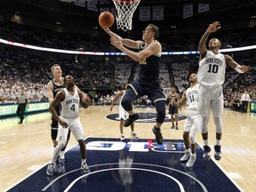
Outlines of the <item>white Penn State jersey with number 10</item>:
{"type": "Polygon", "coordinates": [[[223,54],[207,51],[203,60],[199,61],[197,81],[205,88],[215,89],[225,81],[226,60],[223,54]]]}

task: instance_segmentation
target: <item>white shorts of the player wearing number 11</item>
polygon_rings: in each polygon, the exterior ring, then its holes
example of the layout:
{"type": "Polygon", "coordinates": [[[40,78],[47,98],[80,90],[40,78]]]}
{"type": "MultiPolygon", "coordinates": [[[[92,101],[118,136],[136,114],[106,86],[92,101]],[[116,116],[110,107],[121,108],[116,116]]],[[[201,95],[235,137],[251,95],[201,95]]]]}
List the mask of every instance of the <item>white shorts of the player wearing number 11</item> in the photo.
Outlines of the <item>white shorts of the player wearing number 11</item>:
{"type": "Polygon", "coordinates": [[[201,116],[197,111],[188,111],[187,119],[183,126],[184,132],[201,132],[201,116]]]}

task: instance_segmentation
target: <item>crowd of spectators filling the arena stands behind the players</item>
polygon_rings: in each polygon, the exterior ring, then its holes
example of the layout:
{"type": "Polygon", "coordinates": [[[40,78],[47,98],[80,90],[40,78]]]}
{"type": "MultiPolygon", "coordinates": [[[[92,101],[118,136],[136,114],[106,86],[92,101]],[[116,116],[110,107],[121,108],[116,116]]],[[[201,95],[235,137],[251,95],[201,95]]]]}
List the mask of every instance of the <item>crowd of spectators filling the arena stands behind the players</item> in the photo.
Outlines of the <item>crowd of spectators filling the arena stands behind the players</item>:
{"type": "MultiPolygon", "coordinates": [[[[0,23],[0,38],[19,42],[23,44],[33,44],[37,46],[58,48],[65,50],[82,50],[90,52],[116,52],[116,48],[109,44],[108,36],[82,36],[75,34],[65,34],[53,32],[49,29],[24,27],[16,23],[4,21],[0,23]],[[102,44],[99,44],[101,42],[102,44]],[[106,45],[107,44],[107,45],[106,45]],[[109,45],[108,45],[109,44],[109,45]]],[[[191,46],[189,44],[198,44],[198,39],[190,42],[188,38],[181,35],[172,38],[173,44],[163,43],[163,51],[184,51],[191,46]],[[188,44],[189,42],[189,44],[188,44]]],[[[256,37],[253,36],[253,30],[228,31],[221,38],[222,45],[226,46],[245,46],[256,44],[256,37]],[[241,36],[247,37],[246,40],[241,36]],[[235,42],[233,40],[236,39],[235,42]],[[242,40],[243,39],[243,40],[242,40]],[[232,44],[228,41],[232,40],[232,44]]],[[[21,88],[26,88],[29,99],[33,101],[47,100],[46,84],[52,78],[51,66],[58,60],[63,75],[76,76],[76,85],[82,90],[96,90],[92,95],[95,104],[108,105],[117,92],[124,89],[139,76],[139,65],[133,60],[128,60],[125,56],[99,56],[97,59],[88,55],[79,56],[74,60],[73,56],[63,54],[53,54],[49,52],[29,51],[24,48],[13,47],[0,44],[0,99],[2,102],[13,102],[20,93],[21,88]],[[121,58],[121,59],[120,59],[121,58]],[[98,90],[108,90],[107,92],[98,92],[98,90]]],[[[236,54],[236,61],[241,60],[241,64],[254,66],[246,74],[238,74],[235,70],[227,68],[226,81],[223,84],[225,93],[225,107],[235,108],[239,105],[241,95],[246,90],[251,98],[255,99],[255,51],[239,52],[236,54]],[[254,61],[253,61],[254,60],[254,61]],[[235,104],[234,104],[235,103],[235,104]],[[238,103],[238,104],[236,104],[238,103]],[[234,107],[235,106],[235,107],[234,107]]],[[[164,89],[164,94],[168,94],[172,86],[177,88],[180,96],[188,88],[188,75],[191,71],[195,72],[195,63],[198,66],[198,55],[192,55],[197,60],[184,60],[183,56],[164,56],[160,66],[160,80],[164,89]],[[173,57],[179,59],[173,60],[173,57]],[[172,58],[172,59],[171,59],[172,58]],[[194,66],[193,66],[194,64],[194,66]],[[191,69],[194,68],[194,69],[191,69]],[[172,81],[173,80],[173,81],[172,81]]],[[[240,62],[239,62],[240,63],[240,62]]],[[[147,97],[136,100],[134,104],[148,104],[147,97]]]]}

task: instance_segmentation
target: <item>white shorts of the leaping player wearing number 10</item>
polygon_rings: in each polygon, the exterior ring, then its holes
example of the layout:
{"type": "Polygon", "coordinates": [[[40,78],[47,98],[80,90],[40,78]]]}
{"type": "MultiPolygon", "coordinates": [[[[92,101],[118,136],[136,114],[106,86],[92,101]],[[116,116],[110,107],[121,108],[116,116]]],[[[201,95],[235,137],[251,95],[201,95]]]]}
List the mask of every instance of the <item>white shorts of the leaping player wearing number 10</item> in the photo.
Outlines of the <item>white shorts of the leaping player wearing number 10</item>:
{"type": "Polygon", "coordinates": [[[216,89],[205,89],[201,84],[198,88],[198,107],[197,110],[203,117],[209,117],[212,109],[214,117],[222,116],[224,108],[222,86],[216,89]]]}

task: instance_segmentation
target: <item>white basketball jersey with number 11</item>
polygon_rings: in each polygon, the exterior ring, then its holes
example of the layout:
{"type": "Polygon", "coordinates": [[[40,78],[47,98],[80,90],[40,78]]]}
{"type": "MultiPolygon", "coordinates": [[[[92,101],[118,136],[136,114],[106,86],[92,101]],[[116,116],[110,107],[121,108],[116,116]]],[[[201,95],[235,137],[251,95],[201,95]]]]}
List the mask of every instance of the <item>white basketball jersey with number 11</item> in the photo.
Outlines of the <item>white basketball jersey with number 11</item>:
{"type": "Polygon", "coordinates": [[[186,91],[188,110],[196,111],[198,103],[198,87],[199,84],[196,84],[194,87],[189,87],[186,91]]]}

